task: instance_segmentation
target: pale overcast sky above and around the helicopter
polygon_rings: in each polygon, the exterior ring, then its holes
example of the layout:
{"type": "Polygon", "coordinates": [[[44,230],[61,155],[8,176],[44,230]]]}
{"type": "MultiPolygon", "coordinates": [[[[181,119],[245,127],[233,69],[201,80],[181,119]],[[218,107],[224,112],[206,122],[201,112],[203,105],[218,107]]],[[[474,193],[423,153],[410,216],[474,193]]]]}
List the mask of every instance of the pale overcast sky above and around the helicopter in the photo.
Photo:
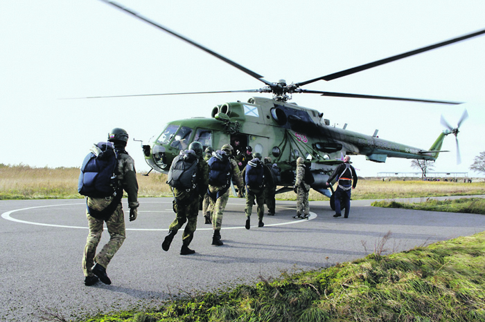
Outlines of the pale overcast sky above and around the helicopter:
{"type": "MultiPolygon", "coordinates": [[[[484,1],[120,0],[264,76],[303,82],[485,28],[484,1]]],[[[213,106],[250,93],[61,100],[261,88],[263,83],[147,23],[97,0],[0,1],[0,163],[79,167],[114,127],[148,171],[140,143],[164,124],[210,117],[213,106]]],[[[457,106],[294,95],[335,126],[429,149],[443,115],[461,126],[461,164],[448,136],[434,171],[469,172],[485,150],[485,36],[304,88],[466,102],[457,106]]],[[[267,94],[258,94],[270,97],[267,94]]],[[[353,158],[361,176],[415,171],[410,160],[353,158]]]]}

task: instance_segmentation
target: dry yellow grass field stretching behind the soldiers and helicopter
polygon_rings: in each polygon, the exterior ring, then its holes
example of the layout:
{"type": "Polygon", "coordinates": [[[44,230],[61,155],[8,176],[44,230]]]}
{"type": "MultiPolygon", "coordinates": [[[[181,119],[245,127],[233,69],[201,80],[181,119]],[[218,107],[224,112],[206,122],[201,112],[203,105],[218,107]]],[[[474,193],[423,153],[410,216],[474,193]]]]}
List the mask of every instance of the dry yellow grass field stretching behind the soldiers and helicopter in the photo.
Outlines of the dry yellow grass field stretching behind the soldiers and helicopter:
{"type": "MultiPolygon", "coordinates": [[[[82,198],[78,193],[78,168],[33,168],[26,165],[6,166],[0,164],[0,200],[82,198]]],[[[137,173],[140,197],[171,196],[166,175],[137,173]]],[[[352,191],[353,200],[412,198],[431,196],[465,196],[485,194],[484,182],[429,182],[421,180],[366,180],[360,179],[352,191]]],[[[280,200],[295,200],[293,192],[276,196],[280,200]]],[[[311,190],[310,200],[328,200],[311,190]]]]}

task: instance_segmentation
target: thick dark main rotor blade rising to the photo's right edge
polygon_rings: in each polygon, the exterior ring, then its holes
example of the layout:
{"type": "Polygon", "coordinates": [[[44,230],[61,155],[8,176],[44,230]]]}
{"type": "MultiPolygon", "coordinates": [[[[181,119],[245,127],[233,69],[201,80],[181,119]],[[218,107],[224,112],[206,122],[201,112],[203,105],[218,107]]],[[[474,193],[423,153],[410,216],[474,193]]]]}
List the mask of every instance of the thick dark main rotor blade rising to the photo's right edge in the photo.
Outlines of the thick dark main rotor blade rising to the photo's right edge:
{"type": "Polygon", "coordinates": [[[385,59],[380,59],[380,60],[377,60],[377,61],[373,61],[369,64],[364,64],[364,65],[361,65],[361,66],[342,70],[342,71],[337,72],[337,73],[329,74],[329,75],[318,77],[318,78],[315,78],[315,79],[310,79],[306,82],[297,83],[295,85],[303,86],[303,85],[306,85],[306,84],[310,84],[312,82],[317,82],[319,80],[330,81],[332,79],[337,79],[337,78],[340,78],[340,77],[351,75],[353,73],[358,73],[362,70],[366,70],[366,69],[373,68],[373,67],[376,67],[376,66],[384,65],[384,64],[390,63],[391,61],[396,61],[398,59],[403,59],[403,58],[406,58],[406,57],[409,57],[409,56],[412,56],[412,55],[421,54],[421,53],[424,53],[425,51],[432,50],[432,49],[439,48],[439,47],[443,47],[443,46],[447,46],[447,45],[450,45],[450,44],[454,44],[455,42],[462,41],[462,40],[465,40],[465,39],[469,39],[469,38],[472,38],[472,37],[477,37],[479,35],[483,35],[484,33],[485,33],[485,29],[479,30],[477,32],[472,32],[468,35],[453,38],[453,39],[450,39],[450,40],[447,40],[447,41],[440,42],[438,44],[425,46],[423,48],[418,48],[416,50],[411,50],[407,53],[388,57],[388,58],[385,58],[385,59]]]}

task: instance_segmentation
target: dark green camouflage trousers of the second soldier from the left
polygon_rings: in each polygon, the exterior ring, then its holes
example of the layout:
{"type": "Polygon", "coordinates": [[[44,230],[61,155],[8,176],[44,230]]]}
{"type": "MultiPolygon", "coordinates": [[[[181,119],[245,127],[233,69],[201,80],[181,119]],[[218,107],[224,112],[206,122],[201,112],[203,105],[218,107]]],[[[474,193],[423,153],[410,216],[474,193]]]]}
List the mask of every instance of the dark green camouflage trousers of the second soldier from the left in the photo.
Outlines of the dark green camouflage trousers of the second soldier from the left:
{"type": "Polygon", "coordinates": [[[199,214],[199,195],[187,194],[186,196],[180,198],[181,195],[177,196],[179,202],[175,205],[175,211],[177,211],[177,216],[168,227],[168,230],[179,231],[180,228],[187,222],[184,229],[184,234],[182,234],[182,243],[186,246],[190,245],[194,237],[195,229],[197,229],[197,215],[199,214]]]}

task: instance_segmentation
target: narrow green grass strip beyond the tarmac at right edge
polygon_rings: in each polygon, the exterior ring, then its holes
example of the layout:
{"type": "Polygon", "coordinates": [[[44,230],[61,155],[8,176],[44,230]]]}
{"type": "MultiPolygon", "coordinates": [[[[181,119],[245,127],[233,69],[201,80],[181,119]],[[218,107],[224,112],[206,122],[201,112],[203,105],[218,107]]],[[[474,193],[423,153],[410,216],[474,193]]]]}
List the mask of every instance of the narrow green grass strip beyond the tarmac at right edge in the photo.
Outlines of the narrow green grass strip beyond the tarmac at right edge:
{"type": "Polygon", "coordinates": [[[403,208],[425,211],[446,211],[464,214],[485,215],[484,198],[461,198],[453,200],[426,200],[425,202],[374,201],[374,207],[403,208]]]}

